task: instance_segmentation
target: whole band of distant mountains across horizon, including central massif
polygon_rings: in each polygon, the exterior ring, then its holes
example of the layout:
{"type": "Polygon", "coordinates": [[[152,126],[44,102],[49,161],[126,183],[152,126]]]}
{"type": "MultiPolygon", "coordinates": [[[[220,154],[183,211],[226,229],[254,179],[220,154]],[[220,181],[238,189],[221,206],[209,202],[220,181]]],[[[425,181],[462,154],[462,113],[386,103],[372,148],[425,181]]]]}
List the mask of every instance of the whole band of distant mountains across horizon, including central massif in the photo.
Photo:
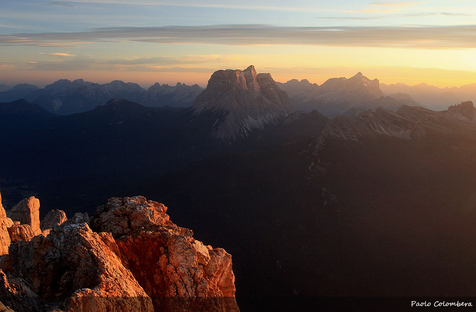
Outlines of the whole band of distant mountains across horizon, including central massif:
{"type": "Polygon", "coordinates": [[[0,85],[0,102],[25,99],[59,115],[88,111],[111,99],[125,99],[151,107],[193,105],[202,109],[213,105],[213,109],[229,111],[227,122],[222,123],[214,135],[236,138],[245,136],[250,128],[275,122],[277,117],[294,110],[310,112],[316,109],[329,118],[337,115],[356,117],[367,110],[375,111],[377,107],[396,111],[400,106],[408,105],[442,110],[463,101],[476,101],[476,84],[445,89],[426,84],[386,85],[379,83],[378,79],[370,80],[359,72],[351,78],[328,79],[319,86],[306,79],[275,82],[271,75],[256,74],[254,67],[250,67],[243,71],[215,72],[209,81],[208,90],[202,95],[204,89],[198,85],[181,83],[176,86],[155,83],[145,90],[135,83],[119,80],[97,84],[82,79],[61,79],[43,89],[29,84],[19,84],[13,88],[0,85]],[[238,76],[232,77],[233,73],[238,73],[238,76]],[[265,89],[261,84],[265,85],[265,89]],[[243,103],[247,104],[241,105],[243,103]],[[250,106],[251,103],[261,104],[250,106]],[[270,103],[279,108],[270,110],[270,103]],[[239,112],[234,109],[237,105],[240,107],[239,112]]]}

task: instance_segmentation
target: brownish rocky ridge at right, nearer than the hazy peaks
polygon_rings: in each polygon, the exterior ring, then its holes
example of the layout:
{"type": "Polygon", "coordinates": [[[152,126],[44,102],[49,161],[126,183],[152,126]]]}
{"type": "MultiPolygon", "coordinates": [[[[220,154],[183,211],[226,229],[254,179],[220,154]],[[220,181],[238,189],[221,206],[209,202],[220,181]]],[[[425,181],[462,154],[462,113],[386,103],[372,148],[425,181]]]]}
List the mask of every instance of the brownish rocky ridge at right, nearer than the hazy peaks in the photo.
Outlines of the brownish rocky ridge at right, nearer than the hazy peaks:
{"type": "Polygon", "coordinates": [[[433,111],[418,106],[403,105],[396,112],[378,107],[355,118],[336,116],[326,124],[321,135],[310,146],[311,162],[308,179],[319,176],[326,169],[320,157],[328,143],[335,140],[351,143],[377,142],[384,138],[397,140],[437,140],[443,138],[464,148],[459,141],[476,140],[476,108],[473,102],[449,106],[447,110],[433,111]]]}

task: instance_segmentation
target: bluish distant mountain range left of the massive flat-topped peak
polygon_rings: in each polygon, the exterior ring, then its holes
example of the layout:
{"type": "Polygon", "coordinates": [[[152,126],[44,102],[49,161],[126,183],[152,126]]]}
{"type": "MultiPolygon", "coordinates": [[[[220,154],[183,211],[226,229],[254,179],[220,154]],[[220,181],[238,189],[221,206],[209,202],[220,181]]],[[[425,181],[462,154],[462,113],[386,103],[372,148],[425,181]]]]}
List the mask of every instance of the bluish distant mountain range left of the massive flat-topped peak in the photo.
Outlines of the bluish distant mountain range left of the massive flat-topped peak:
{"type": "Polygon", "coordinates": [[[0,102],[25,99],[59,115],[69,115],[94,109],[114,98],[126,99],[145,106],[188,107],[202,92],[198,85],[176,86],[154,84],[148,90],[135,83],[115,80],[107,84],[87,82],[82,79],[61,79],[40,89],[21,84],[0,92],[0,102]]]}

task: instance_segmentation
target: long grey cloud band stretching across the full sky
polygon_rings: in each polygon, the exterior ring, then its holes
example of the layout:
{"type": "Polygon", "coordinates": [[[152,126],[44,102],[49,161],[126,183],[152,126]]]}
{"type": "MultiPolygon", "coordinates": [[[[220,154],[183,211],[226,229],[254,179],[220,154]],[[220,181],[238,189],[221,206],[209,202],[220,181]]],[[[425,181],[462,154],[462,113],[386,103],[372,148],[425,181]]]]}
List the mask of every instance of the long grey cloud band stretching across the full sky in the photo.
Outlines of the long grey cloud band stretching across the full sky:
{"type": "Polygon", "coordinates": [[[476,48],[476,25],[415,27],[288,27],[211,25],[98,28],[89,32],[0,35],[0,45],[68,46],[78,43],[325,45],[476,48]]]}

